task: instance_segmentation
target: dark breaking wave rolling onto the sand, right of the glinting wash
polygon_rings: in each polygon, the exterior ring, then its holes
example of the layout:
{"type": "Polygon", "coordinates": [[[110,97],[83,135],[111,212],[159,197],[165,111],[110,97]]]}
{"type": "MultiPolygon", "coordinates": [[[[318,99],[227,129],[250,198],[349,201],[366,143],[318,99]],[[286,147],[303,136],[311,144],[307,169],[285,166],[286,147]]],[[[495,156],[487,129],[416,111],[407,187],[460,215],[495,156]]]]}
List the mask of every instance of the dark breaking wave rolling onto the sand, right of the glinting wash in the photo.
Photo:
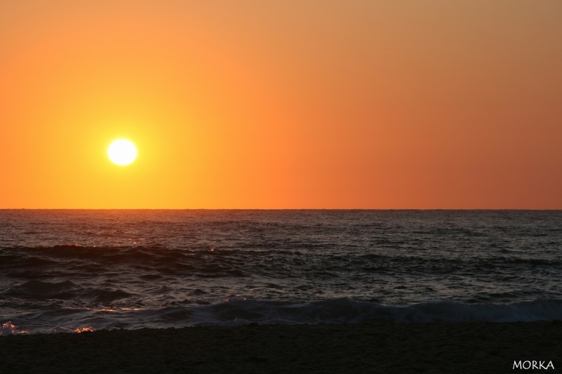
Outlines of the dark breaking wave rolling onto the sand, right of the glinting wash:
{"type": "MultiPolygon", "coordinates": [[[[561,319],[562,300],[537,299],[510,304],[433,301],[381,305],[336,298],[306,304],[235,300],[207,307],[213,323],[244,319],[248,323],[516,322],[561,319]]],[[[204,322],[205,323],[205,322],[204,322]]]]}

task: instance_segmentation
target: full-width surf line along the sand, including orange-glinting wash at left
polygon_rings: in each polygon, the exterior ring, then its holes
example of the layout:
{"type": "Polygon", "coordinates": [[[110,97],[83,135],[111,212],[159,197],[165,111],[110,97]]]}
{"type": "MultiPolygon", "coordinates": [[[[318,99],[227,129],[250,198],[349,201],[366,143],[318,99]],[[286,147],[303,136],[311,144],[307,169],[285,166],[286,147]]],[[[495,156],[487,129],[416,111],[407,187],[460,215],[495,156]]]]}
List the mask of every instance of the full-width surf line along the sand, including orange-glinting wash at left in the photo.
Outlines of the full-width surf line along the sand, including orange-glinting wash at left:
{"type": "Polygon", "coordinates": [[[295,304],[263,300],[228,300],[212,305],[175,305],[154,309],[68,309],[0,321],[0,335],[59,333],[112,328],[179,328],[316,323],[451,323],[556,321],[562,300],[537,299],[510,304],[433,301],[382,305],[350,298],[295,304]]]}

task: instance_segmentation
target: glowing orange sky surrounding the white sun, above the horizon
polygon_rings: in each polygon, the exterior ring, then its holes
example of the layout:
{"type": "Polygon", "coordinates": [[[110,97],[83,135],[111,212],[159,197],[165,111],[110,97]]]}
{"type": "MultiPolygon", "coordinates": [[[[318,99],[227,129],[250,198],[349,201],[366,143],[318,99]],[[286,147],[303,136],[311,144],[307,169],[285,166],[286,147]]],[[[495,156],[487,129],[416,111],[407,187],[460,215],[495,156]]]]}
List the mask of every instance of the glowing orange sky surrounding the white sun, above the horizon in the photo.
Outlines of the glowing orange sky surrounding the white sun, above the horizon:
{"type": "Polygon", "coordinates": [[[2,0],[0,208],[562,209],[561,20],[558,0],[2,0]]]}

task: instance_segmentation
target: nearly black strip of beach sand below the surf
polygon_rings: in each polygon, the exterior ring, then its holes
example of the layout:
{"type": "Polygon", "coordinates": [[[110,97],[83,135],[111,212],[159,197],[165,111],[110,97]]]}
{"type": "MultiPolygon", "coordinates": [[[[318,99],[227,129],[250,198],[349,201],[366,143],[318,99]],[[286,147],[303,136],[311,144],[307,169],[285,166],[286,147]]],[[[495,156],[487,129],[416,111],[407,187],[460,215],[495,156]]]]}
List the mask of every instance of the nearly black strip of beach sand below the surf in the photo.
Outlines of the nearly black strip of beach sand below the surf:
{"type": "Polygon", "coordinates": [[[253,324],[0,337],[6,374],[521,371],[562,372],[561,321],[253,324]],[[551,361],[554,370],[514,370],[514,360],[551,361]]]}

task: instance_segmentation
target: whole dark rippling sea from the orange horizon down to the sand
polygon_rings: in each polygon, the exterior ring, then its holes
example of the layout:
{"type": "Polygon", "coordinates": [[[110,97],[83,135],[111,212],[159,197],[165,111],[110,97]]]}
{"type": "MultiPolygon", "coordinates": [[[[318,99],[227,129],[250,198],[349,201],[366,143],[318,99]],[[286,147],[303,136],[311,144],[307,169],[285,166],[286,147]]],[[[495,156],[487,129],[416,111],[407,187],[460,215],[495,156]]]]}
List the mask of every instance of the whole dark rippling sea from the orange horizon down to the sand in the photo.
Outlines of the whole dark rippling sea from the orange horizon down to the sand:
{"type": "Polygon", "coordinates": [[[0,211],[0,333],[562,319],[562,211],[0,211]]]}

